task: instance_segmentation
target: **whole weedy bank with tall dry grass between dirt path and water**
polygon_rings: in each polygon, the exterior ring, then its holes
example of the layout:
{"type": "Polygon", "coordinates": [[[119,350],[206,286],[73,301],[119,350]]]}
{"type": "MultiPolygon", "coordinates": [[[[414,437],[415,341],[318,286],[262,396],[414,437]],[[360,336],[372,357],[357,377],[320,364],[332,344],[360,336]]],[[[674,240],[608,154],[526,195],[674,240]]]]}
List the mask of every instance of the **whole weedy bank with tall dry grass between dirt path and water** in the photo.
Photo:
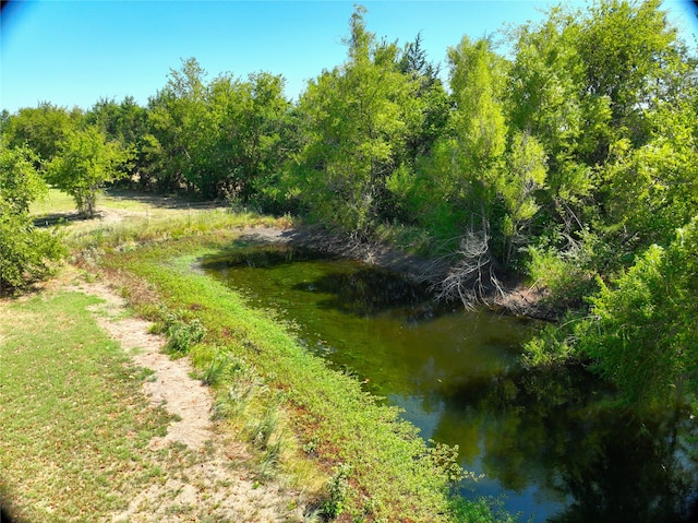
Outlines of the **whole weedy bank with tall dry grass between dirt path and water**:
{"type": "Polygon", "coordinates": [[[176,314],[181,331],[205,329],[185,354],[197,372],[218,376],[214,413],[248,441],[265,473],[325,471],[328,484],[316,508],[324,516],[450,521],[445,448],[434,454],[396,408],[310,354],[273,311],[248,308],[191,270],[195,259],[237,237],[219,231],[115,251],[100,265],[141,316],[166,323],[176,314]]]}

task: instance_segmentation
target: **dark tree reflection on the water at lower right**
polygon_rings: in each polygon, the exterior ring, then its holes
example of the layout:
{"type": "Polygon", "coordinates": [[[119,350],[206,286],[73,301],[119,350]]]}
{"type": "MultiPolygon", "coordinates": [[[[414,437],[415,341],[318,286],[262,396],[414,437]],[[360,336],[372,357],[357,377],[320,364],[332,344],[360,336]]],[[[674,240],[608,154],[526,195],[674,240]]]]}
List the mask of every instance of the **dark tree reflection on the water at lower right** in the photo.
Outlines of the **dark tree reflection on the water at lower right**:
{"type": "Polygon", "coordinates": [[[444,390],[433,438],[477,430],[466,468],[521,492],[531,486],[573,522],[693,521],[698,496],[696,424],[685,406],[639,417],[580,368],[522,371],[444,390]],[[477,427],[477,429],[474,429],[477,427]],[[460,429],[462,430],[462,429],[460,429]]]}

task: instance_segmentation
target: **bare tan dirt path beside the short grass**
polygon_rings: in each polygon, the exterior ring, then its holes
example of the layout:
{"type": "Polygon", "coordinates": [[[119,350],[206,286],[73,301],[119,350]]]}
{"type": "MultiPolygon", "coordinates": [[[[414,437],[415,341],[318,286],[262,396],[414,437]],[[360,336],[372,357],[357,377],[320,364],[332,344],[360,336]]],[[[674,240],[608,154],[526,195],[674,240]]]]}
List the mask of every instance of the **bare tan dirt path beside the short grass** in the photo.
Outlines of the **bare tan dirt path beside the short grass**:
{"type": "Polygon", "coordinates": [[[210,394],[191,378],[189,359],[161,354],[165,338],[151,334],[148,322],[129,317],[124,300],[106,285],[81,283],[76,289],[104,300],[92,309],[99,325],[136,366],[153,370],[143,391],[176,419],[167,436],[154,438],[149,445],[167,480],[143,490],[112,521],[305,521],[293,492],[279,484],[255,482],[244,465],[250,456],[243,445],[216,430],[209,417],[210,394]]]}

